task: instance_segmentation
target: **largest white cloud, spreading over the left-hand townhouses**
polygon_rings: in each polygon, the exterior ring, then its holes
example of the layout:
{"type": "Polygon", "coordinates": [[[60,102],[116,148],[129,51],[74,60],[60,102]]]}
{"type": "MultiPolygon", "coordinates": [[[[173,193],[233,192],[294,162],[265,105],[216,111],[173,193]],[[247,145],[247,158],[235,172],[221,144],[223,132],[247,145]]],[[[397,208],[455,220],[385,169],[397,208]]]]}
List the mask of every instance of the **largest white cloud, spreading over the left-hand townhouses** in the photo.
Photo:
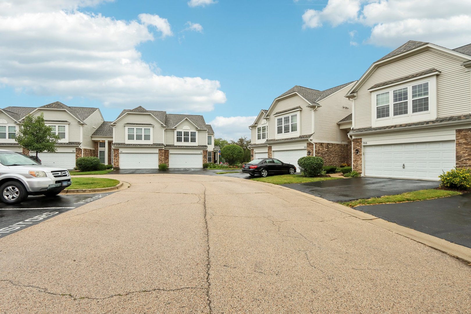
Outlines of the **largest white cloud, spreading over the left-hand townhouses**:
{"type": "Polygon", "coordinates": [[[226,101],[219,81],[159,75],[155,63],[142,60],[136,47],[154,40],[154,26],[162,37],[171,36],[170,24],[160,16],[142,14],[139,23],[54,9],[98,0],[42,1],[49,11],[38,9],[41,1],[30,1],[31,7],[18,1],[22,12],[0,0],[0,86],[149,110],[178,106],[184,112],[204,112],[226,101]]]}

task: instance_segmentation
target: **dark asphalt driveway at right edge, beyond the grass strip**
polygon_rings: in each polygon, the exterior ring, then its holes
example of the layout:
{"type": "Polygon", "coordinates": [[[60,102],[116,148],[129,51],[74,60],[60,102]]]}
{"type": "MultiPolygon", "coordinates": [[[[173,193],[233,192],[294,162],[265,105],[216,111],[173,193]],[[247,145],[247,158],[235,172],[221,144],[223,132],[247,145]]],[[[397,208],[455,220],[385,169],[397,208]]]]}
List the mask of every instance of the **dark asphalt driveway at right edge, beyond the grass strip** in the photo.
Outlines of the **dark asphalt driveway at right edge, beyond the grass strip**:
{"type": "Polygon", "coordinates": [[[471,193],[355,209],[471,248],[471,193]]]}

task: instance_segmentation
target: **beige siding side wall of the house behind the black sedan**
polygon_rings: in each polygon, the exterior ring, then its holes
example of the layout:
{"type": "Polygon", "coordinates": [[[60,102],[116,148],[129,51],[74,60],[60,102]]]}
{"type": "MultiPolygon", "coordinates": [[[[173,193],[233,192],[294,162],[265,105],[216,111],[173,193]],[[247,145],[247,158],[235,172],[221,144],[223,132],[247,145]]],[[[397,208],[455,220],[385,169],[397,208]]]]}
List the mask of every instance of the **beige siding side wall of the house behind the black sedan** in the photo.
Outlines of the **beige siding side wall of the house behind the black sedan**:
{"type": "Polygon", "coordinates": [[[337,122],[351,113],[352,101],[345,95],[353,85],[354,83],[351,83],[319,101],[321,107],[314,112],[314,140],[347,141],[347,133],[339,128],[337,122]]]}

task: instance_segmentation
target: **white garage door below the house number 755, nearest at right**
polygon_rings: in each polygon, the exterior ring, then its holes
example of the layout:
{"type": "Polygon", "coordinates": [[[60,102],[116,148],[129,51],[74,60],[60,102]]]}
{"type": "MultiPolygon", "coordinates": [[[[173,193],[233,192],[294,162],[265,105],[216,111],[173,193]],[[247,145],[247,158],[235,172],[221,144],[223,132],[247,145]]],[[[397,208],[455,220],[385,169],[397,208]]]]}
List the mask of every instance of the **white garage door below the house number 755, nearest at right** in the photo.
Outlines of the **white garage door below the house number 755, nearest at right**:
{"type": "Polygon", "coordinates": [[[363,146],[365,176],[439,180],[455,167],[455,141],[363,146]]]}

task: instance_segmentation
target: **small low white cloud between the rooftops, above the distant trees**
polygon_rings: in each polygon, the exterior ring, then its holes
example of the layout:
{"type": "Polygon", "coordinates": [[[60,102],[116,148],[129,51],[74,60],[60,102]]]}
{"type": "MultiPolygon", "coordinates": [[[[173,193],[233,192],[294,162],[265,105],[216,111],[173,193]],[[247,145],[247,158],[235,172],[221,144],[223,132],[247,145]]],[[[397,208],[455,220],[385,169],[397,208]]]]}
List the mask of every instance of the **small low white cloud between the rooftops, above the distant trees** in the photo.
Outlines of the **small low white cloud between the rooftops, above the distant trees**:
{"type": "Polygon", "coordinates": [[[214,130],[215,137],[221,137],[227,140],[237,140],[240,137],[250,138],[249,125],[257,117],[216,117],[209,122],[214,130]]]}

